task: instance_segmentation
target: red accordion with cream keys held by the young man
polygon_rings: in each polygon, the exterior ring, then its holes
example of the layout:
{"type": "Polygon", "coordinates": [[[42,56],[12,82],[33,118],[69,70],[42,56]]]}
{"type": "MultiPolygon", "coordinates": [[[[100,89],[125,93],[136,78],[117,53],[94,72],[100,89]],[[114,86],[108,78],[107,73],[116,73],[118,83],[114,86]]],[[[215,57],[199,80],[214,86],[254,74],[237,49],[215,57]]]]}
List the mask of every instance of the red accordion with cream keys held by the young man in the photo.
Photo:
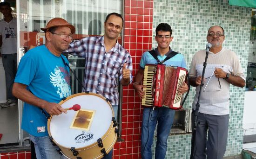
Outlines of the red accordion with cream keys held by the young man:
{"type": "Polygon", "coordinates": [[[177,90],[183,82],[187,81],[187,75],[188,71],[182,67],[146,64],[143,79],[143,85],[146,87],[143,88],[145,95],[141,105],[181,109],[184,103],[183,95],[177,94],[177,90]]]}

